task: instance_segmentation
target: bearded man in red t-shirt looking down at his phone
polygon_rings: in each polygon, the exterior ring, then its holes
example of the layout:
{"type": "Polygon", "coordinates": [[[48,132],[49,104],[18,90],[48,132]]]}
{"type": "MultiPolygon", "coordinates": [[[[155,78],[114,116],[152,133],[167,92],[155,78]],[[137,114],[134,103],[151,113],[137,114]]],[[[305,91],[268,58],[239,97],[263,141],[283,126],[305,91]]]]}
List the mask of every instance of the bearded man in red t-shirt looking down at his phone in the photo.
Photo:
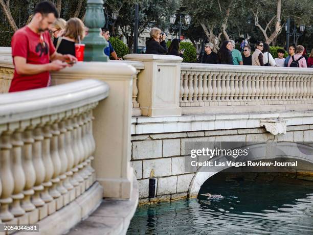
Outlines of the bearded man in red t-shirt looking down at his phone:
{"type": "Polygon", "coordinates": [[[41,2],[29,25],[14,33],[11,46],[15,68],[9,92],[47,87],[50,71],[58,71],[77,61],[72,55],[55,51],[48,29],[56,18],[55,6],[48,1],[41,2]]]}

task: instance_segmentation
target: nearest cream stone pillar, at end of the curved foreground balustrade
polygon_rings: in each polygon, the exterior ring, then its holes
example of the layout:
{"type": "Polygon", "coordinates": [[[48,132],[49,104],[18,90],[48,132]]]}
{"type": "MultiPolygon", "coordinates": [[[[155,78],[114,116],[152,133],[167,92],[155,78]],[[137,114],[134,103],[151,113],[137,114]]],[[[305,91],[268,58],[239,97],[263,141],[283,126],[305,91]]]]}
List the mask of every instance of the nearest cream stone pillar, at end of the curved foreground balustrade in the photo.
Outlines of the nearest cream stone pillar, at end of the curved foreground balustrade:
{"type": "Polygon", "coordinates": [[[93,78],[105,81],[110,87],[109,96],[100,101],[92,113],[95,117],[92,131],[96,142],[95,152],[92,148],[92,166],[103,186],[104,197],[128,199],[131,195],[130,119],[135,75],[136,69],[123,62],[79,62],[52,73],[54,85],[93,78]]]}

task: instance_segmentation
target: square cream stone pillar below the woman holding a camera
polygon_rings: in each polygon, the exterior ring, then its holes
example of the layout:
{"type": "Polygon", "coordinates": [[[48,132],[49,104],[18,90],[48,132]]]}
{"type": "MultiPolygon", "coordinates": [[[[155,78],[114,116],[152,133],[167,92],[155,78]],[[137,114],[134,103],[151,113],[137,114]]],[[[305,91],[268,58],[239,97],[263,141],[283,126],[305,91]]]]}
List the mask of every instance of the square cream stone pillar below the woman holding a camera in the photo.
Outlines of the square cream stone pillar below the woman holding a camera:
{"type": "Polygon", "coordinates": [[[143,116],[177,116],[180,108],[181,61],[167,55],[129,54],[126,60],[145,64],[138,75],[138,102],[143,116]]]}

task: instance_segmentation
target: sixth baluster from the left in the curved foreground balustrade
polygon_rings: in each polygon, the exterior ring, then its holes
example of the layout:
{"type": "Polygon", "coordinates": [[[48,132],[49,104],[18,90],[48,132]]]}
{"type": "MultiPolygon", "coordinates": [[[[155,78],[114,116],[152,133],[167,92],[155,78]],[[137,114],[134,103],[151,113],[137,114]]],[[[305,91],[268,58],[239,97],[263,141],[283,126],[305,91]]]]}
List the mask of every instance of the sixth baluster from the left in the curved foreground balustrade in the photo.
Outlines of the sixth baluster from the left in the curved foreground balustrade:
{"type": "MultiPolygon", "coordinates": [[[[57,114],[52,116],[52,138],[51,138],[51,159],[53,162],[53,176],[52,176],[52,187],[50,190],[50,195],[53,198],[59,198],[61,196],[61,192],[57,190],[57,186],[60,183],[60,171],[61,171],[61,160],[59,156],[58,149],[58,136],[60,135],[60,131],[58,130],[58,117],[57,114]]],[[[63,190],[63,189],[62,189],[63,190]]]]}

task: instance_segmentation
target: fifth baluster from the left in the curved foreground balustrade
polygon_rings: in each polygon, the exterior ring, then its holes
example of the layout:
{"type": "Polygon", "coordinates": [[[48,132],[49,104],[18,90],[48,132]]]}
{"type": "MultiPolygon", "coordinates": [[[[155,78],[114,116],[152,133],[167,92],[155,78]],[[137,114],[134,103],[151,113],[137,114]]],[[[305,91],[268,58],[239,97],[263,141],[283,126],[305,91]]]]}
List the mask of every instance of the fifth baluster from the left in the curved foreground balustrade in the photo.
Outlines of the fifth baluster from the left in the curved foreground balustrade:
{"type": "Polygon", "coordinates": [[[42,143],[43,144],[42,145],[42,161],[43,161],[44,169],[46,171],[45,172],[46,174],[44,175],[44,180],[42,183],[44,190],[41,193],[41,199],[46,203],[50,203],[53,201],[52,196],[49,194],[49,190],[52,186],[51,179],[52,179],[53,172],[54,172],[53,162],[51,158],[51,151],[50,151],[51,139],[52,139],[50,117],[49,116],[41,117],[41,122],[44,125],[43,126],[43,143],[42,143]]]}

